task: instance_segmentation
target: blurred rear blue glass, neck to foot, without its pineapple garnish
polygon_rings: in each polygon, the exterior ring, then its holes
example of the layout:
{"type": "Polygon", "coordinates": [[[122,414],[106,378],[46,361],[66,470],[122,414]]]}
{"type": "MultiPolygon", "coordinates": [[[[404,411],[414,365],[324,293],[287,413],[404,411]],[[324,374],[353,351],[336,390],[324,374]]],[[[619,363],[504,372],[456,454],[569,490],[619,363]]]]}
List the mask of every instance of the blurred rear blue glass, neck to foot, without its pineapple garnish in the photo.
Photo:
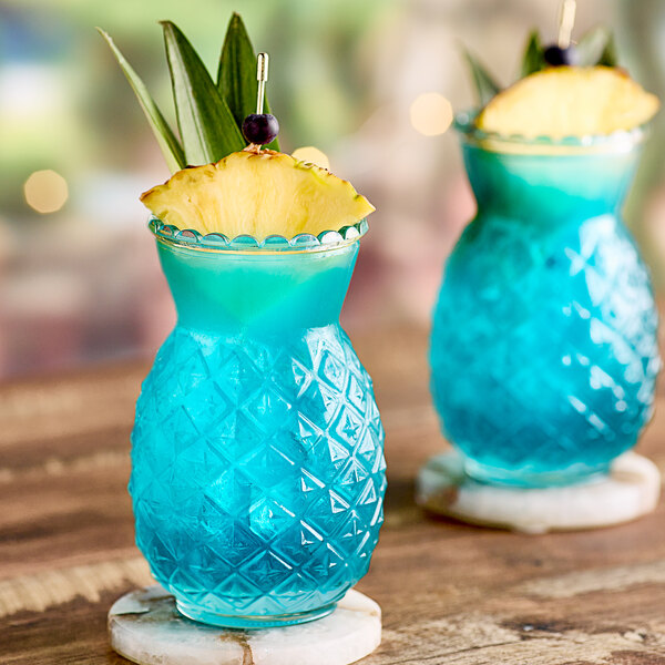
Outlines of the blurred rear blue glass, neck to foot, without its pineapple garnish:
{"type": "Polygon", "coordinates": [[[617,212],[638,150],[463,150],[479,209],[431,337],[444,433],[490,482],[603,472],[649,419],[659,368],[648,275],[617,212]]]}

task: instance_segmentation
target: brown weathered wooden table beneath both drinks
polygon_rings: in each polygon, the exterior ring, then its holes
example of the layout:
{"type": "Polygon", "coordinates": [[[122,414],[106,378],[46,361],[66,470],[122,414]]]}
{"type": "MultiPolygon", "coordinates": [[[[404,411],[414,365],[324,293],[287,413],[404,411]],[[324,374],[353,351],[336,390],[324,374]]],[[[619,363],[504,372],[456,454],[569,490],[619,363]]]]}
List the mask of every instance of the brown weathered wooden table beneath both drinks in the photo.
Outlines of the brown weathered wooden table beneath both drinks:
{"type": "MultiPolygon", "coordinates": [[[[352,337],[375,379],[389,474],[386,524],[359,584],[383,608],[383,643],[364,663],[665,664],[663,504],[624,526],[541,536],[423,515],[413,477],[443,447],[427,335],[352,337]]],[[[114,598],[151,581],[125,489],[146,371],[113,366],[0,388],[2,664],[126,663],[105,622],[114,598]]],[[[641,451],[665,469],[659,406],[641,451]]]]}

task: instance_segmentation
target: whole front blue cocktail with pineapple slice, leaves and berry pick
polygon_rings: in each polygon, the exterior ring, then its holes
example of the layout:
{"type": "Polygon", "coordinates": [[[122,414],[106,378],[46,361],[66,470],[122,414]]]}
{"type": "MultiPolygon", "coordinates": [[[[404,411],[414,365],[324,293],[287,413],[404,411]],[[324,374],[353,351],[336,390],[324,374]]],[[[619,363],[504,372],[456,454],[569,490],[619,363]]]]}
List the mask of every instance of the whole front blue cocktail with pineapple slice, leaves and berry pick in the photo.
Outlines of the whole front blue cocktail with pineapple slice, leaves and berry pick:
{"type": "Polygon", "coordinates": [[[306,622],[365,575],[383,520],[383,430],[339,325],[374,206],[262,147],[268,55],[238,14],[216,82],[162,25],[180,139],[102,31],[174,173],[142,196],[177,325],[136,405],[136,542],[191,618],[306,622]]]}

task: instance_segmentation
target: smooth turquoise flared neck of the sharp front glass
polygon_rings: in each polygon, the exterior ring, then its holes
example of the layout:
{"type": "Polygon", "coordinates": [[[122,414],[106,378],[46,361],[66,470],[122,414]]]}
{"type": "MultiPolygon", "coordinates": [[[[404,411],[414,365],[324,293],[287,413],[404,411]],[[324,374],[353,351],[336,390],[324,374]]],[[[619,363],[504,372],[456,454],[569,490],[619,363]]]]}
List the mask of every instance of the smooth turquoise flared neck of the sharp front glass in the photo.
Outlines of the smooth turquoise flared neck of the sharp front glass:
{"type": "Polygon", "coordinates": [[[316,252],[206,252],[157,241],[178,325],[213,334],[299,335],[339,321],[359,243],[316,252]]]}

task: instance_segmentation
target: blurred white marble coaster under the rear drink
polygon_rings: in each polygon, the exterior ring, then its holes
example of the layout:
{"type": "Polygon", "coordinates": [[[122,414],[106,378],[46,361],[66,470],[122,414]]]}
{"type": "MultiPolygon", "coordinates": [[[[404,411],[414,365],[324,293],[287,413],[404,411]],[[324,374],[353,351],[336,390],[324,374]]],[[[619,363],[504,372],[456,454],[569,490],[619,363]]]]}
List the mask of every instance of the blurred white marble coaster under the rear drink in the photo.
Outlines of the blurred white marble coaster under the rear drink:
{"type": "Polygon", "coordinates": [[[545,533],[630,522],[652,512],[659,493],[658,468],[635,452],[617,458],[606,478],[546,489],[477,482],[466,475],[460,456],[447,452],[420,470],[416,501],[462,522],[545,533]]]}

